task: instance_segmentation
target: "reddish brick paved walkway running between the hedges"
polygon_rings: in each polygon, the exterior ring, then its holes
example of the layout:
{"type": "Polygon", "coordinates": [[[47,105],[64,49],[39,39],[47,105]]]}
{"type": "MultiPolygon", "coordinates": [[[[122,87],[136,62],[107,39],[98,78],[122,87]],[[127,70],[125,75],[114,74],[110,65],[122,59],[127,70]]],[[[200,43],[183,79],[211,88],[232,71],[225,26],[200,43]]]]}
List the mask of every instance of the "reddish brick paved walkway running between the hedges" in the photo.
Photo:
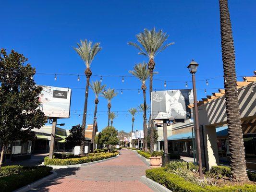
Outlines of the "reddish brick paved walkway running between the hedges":
{"type": "Polygon", "coordinates": [[[58,178],[37,189],[40,192],[153,192],[140,181],[148,167],[131,150],[121,155],[82,168],[59,169],[58,178]]]}

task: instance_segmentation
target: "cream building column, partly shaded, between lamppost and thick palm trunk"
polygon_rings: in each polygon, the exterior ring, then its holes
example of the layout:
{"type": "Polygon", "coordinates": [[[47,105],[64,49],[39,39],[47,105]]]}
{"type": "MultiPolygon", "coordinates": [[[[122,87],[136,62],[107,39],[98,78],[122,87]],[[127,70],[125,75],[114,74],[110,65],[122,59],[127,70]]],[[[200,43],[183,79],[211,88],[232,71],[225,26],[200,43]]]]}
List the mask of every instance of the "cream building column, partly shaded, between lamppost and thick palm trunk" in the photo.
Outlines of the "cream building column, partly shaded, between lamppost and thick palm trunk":
{"type": "Polygon", "coordinates": [[[203,165],[205,164],[205,167],[209,170],[212,166],[217,166],[219,164],[216,127],[204,126],[204,129],[202,129],[200,134],[201,133],[203,133],[202,140],[204,142],[201,147],[202,161],[203,165]]]}

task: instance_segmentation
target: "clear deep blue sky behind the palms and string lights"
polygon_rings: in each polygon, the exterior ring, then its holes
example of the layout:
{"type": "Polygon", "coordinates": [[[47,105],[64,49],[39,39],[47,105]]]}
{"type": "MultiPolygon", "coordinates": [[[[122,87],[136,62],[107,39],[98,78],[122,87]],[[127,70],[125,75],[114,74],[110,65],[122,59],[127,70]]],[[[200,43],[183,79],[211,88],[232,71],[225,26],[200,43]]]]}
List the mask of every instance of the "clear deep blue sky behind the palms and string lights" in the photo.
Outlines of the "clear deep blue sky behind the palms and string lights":
{"type": "MultiPolygon", "coordinates": [[[[256,1],[230,0],[230,13],[236,53],[236,71],[239,76],[252,75],[256,63],[256,1]]],[[[2,1],[0,12],[0,47],[23,53],[29,63],[40,73],[83,74],[85,65],[73,46],[80,39],[100,42],[102,51],[91,65],[94,75],[129,75],[135,63],[148,61],[137,55],[128,41],[146,28],[162,29],[175,42],[156,57],[157,79],[166,81],[191,81],[186,69],[191,59],[199,63],[197,80],[223,75],[220,45],[219,5],[217,0],[23,0],[2,1]]],[[[37,84],[60,87],[85,87],[85,77],[77,82],[76,76],[35,76],[37,84]]],[[[99,80],[93,76],[91,80],[99,80]]],[[[238,80],[242,80],[238,77],[238,80]]],[[[198,99],[223,87],[223,78],[197,82],[198,99]]],[[[140,89],[140,82],[131,77],[103,77],[107,87],[140,89]]],[[[147,82],[148,83],[148,82],[147,82]]],[[[192,87],[188,83],[189,88],[192,87]]],[[[149,87],[149,85],[148,85],[149,87]]],[[[184,89],[184,83],[154,81],[153,89],[184,89]]],[[[147,92],[147,102],[149,103],[147,92]]],[[[70,119],[59,120],[65,129],[82,122],[85,99],[84,89],[73,89],[70,119]],[[76,114],[74,114],[76,110],[76,114]],[[80,112],[78,112],[81,110],[80,112]]],[[[99,130],[107,125],[107,101],[100,97],[98,105],[99,130]]],[[[131,116],[127,110],[143,102],[138,91],[123,91],[112,100],[112,111],[119,111],[113,125],[118,130],[131,130],[131,116]],[[123,112],[122,112],[123,111],[123,112]]],[[[92,123],[94,95],[89,92],[87,124],[92,123]]],[[[142,115],[135,117],[134,129],[142,129],[142,115]]]]}

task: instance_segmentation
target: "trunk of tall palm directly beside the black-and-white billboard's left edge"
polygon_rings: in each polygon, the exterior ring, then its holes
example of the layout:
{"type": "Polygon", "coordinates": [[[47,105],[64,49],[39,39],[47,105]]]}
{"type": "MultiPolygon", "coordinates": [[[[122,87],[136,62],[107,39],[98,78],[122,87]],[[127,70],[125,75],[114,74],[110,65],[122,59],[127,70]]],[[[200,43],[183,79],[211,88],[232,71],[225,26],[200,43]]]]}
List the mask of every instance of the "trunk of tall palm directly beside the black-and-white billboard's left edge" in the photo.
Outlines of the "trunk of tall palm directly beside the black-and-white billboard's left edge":
{"type": "MultiPolygon", "coordinates": [[[[148,62],[148,69],[149,69],[149,98],[151,101],[151,93],[153,91],[153,70],[155,68],[155,62],[154,60],[149,60],[148,62]]],[[[152,106],[151,106],[152,107],[152,106]]],[[[154,151],[154,120],[152,120],[152,116],[150,113],[150,153],[153,153],[154,151]]]]}

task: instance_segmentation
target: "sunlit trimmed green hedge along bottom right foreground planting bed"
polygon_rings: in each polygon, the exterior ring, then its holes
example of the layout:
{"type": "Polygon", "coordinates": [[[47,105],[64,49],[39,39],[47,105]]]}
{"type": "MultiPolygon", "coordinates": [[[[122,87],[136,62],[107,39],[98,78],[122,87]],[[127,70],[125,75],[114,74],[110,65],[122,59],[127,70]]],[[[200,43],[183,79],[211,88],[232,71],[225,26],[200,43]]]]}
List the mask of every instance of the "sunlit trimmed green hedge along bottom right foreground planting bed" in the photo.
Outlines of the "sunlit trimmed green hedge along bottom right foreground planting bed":
{"type": "Polygon", "coordinates": [[[146,170],[146,177],[167,187],[173,192],[255,192],[255,185],[244,186],[207,186],[202,188],[194,183],[184,180],[182,177],[164,171],[164,168],[152,168],[146,170]]]}

